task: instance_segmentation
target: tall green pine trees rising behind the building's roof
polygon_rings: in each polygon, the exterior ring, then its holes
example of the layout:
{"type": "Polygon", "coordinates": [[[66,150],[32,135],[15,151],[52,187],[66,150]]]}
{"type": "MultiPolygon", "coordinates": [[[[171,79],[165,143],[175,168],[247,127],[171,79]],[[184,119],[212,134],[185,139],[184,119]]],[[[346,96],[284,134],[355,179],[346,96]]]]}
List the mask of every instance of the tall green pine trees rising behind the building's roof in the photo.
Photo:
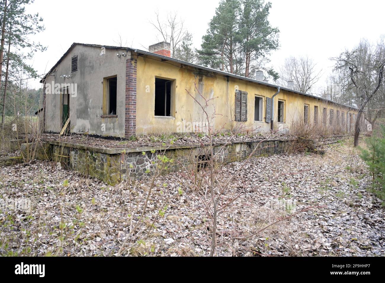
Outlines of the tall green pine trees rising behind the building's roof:
{"type": "Polygon", "coordinates": [[[270,8],[263,0],[222,0],[203,36],[199,63],[246,77],[263,69],[278,79],[266,67],[267,56],[278,48],[279,30],[267,19],[270,8]]]}

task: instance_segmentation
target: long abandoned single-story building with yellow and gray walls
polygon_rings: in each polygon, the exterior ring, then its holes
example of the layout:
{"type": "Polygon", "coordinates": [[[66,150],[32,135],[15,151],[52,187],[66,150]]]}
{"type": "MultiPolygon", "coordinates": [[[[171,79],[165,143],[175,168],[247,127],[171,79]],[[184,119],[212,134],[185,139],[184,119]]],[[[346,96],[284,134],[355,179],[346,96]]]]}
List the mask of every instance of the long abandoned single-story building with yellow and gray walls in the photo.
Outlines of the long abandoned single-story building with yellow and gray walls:
{"type": "Polygon", "coordinates": [[[295,121],[353,128],[358,110],[331,100],[149,51],[74,43],[43,77],[47,132],[129,137],[152,132],[287,131],[295,121]],[[196,87],[195,87],[196,84],[196,87]],[[199,94],[200,93],[200,94],[199,94]],[[205,99],[203,99],[203,97],[205,99]],[[66,121],[69,119],[69,122],[66,121]]]}

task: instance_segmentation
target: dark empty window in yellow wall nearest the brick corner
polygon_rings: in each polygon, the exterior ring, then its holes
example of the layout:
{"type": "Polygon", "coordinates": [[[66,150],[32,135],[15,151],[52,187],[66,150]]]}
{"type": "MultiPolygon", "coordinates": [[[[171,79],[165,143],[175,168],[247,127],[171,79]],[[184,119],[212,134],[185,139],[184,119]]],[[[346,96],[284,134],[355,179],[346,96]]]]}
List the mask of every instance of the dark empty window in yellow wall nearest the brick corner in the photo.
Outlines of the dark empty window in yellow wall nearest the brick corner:
{"type": "Polygon", "coordinates": [[[155,78],[155,116],[171,116],[171,80],[155,78]]]}

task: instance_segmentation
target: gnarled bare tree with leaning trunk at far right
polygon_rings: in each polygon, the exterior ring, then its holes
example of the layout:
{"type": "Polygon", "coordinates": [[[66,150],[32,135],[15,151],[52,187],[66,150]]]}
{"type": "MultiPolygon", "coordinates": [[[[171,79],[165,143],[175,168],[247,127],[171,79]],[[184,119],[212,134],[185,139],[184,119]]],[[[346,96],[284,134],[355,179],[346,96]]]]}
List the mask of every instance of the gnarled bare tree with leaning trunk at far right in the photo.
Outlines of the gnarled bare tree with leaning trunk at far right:
{"type": "Polygon", "coordinates": [[[357,102],[354,146],[358,146],[362,113],[383,85],[385,67],[385,41],[381,37],[376,45],[361,40],[353,50],[346,50],[334,58],[335,70],[345,70],[348,75],[346,90],[350,90],[357,102]]]}

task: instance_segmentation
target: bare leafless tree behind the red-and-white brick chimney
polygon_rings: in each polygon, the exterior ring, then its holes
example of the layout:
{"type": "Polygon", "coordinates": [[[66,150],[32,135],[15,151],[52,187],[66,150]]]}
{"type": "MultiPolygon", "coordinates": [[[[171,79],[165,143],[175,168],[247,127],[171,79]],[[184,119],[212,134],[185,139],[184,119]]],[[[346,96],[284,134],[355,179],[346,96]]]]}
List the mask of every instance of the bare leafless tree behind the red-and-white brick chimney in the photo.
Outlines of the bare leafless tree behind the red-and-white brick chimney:
{"type": "MultiPolygon", "coordinates": [[[[157,30],[160,36],[165,42],[171,44],[171,56],[174,55],[175,50],[182,43],[186,34],[184,28],[184,21],[178,18],[177,13],[169,13],[166,20],[162,20],[159,16],[159,12],[155,12],[156,20],[150,21],[151,25],[157,30]]],[[[157,40],[159,38],[157,36],[157,40]]]]}

